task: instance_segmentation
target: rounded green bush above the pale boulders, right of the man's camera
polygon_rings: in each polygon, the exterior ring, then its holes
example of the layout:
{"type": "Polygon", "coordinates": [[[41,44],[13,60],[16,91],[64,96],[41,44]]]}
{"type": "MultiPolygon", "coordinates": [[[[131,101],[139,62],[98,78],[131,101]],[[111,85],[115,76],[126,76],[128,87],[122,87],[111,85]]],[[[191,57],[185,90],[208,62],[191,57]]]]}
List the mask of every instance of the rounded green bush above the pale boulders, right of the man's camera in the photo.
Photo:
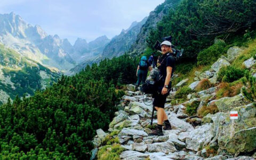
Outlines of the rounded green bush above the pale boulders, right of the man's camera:
{"type": "Polygon", "coordinates": [[[209,65],[218,60],[220,55],[227,52],[226,44],[219,42],[199,52],[197,55],[197,65],[209,65]]]}

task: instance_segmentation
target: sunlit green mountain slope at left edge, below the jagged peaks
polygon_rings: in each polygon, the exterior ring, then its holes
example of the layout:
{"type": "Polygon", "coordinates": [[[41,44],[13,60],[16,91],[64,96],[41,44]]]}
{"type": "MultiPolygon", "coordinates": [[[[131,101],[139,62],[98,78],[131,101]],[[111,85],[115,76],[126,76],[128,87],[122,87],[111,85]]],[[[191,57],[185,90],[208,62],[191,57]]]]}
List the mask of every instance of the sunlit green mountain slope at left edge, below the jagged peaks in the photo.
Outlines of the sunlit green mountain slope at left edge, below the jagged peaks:
{"type": "Polygon", "coordinates": [[[33,95],[59,78],[59,74],[40,63],[0,44],[0,104],[16,95],[33,95]]]}

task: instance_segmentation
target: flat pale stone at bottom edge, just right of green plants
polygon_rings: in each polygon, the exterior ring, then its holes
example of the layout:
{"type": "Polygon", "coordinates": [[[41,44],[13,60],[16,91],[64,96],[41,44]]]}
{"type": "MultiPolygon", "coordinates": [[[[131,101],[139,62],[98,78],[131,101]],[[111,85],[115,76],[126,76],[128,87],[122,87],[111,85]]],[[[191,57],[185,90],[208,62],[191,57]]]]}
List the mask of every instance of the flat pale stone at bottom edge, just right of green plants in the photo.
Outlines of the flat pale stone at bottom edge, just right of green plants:
{"type": "Polygon", "coordinates": [[[120,158],[125,159],[125,160],[131,160],[131,159],[143,160],[147,157],[149,157],[148,154],[143,154],[143,153],[140,153],[138,151],[133,151],[133,150],[123,151],[123,153],[120,155],[120,158]]]}

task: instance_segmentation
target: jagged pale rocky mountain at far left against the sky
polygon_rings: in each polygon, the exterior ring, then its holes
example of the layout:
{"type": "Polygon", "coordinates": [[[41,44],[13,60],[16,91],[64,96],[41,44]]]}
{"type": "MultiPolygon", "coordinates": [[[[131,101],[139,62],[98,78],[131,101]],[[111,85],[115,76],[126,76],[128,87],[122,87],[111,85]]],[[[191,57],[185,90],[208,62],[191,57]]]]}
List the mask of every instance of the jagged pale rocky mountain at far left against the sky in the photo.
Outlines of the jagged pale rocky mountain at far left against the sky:
{"type": "Polygon", "coordinates": [[[75,64],[66,51],[66,40],[47,35],[40,26],[28,24],[13,12],[0,14],[0,42],[45,65],[69,69],[75,64]]]}

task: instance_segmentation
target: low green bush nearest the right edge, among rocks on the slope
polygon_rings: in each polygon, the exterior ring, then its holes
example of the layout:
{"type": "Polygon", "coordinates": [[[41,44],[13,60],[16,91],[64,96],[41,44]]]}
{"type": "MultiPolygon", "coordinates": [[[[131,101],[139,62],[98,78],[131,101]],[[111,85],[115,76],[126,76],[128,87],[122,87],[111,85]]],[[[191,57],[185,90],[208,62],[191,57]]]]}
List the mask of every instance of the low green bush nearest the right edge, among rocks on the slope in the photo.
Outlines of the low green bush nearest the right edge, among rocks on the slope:
{"type": "Polygon", "coordinates": [[[244,77],[244,69],[234,66],[223,67],[218,73],[218,81],[222,82],[234,82],[244,77]]]}

